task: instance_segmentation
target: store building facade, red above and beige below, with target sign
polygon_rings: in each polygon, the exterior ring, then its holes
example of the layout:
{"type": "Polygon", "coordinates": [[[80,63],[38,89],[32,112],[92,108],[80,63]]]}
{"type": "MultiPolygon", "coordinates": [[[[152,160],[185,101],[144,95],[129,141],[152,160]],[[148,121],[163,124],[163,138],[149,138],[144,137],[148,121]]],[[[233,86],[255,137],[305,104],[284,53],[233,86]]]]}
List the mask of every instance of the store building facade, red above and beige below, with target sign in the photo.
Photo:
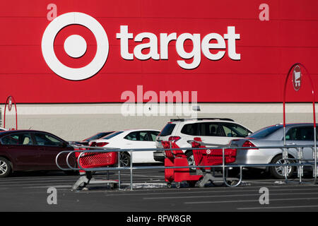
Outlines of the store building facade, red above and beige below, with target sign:
{"type": "MultiPolygon", "coordinates": [[[[162,129],[171,118],[193,116],[160,112],[152,105],[160,102],[252,130],[282,122],[290,67],[300,62],[318,84],[317,8],[315,0],[6,1],[2,119],[12,95],[18,129],[69,141],[98,131],[162,129]]],[[[312,121],[310,81],[301,73],[298,91],[288,81],[288,121],[312,121]]],[[[6,127],[15,126],[12,109],[6,127]]]]}

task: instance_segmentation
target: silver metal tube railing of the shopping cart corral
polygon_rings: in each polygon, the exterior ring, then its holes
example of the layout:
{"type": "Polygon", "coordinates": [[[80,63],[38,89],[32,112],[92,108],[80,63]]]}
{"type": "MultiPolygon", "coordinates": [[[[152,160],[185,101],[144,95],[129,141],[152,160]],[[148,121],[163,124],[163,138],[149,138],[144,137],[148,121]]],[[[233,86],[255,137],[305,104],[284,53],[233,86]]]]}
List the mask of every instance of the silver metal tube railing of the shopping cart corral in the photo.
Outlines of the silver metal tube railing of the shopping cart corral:
{"type": "MultiPolygon", "coordinates": [[[[198,142],[198,141],[196,141],[198,142]]],[[[200,142],[199,142],[200,143],[200,142]]],[[[206,167],[211,167],[211,168],[220,168],[222,171],[222,179],[223,182],[226,186],[238,186],[242,183],[242,168],[243,167],[283,167],[283,175],[285,177],[285,183],[292,183],[292,181],[288,180],[288,167],[298,167],[298,178],[299,182],[298,184],[302,183],[307,183],[307,182],[302,182],[302,176],[303,176],[303,167],[309,166],[312,167],[312,174],[314,181],[311,182],[312,184],[317,184],[317,148],[314,148],[315,145],[288,145],[288,146],[258,146],[258,147],[237,147],[237,146],[225,146],[225,145],[220,145],[216,147],[216,144],[211,144],[211,143],[203,143],[201,142],[201,145],[206,146],[206,148],[169,148],[169,149],[163,149],[163,148],[144,148],[144,149],[116,149],[116,148],[105,148],[105,147],[91,147],[91,146],[81,146],[80,148],[87,148],[89,150],[66,150],[62,151],[59,153],[56,157],[56,164],[57,167],[61,170],[83,170],[85,172],[109,172],[110,170],[118,170],[118,187],[121,189],[121,184],[120,184],[120,172],[122,170],[130,170],[130,189],[133,190],[133,171],[134,169],[178,169],[178,168],[206,168],[206,167]],[[225,150],[226,149],[270,149],[270,148],[278,148],[282,150],[282,155],[283,155],[283,160],[284,163],[282,164],[225,164],[225,150]],[[304,148],[311,148],[312,149],[312,159],[304,159],[303,158],[303,151],[304,148]],[[134,152],[139,152],[139,151],[165,151],[165,150],[207,150],[207,149],[221,149],[223,153],[223,164],[222,165],[189,165],[189,166],[184,166],[184,167],[165,167],[165,166],[133,166],[132,165],[132,159],[133,159],[133,154],[134,152]],[[294,149],[297,150],[297,158],[290,158],[288,157],[288,150],[294,149]],[[69,157],[72,154],[78,153],[80,154],[77,157],[77,165],[78,167],[72,167],[69,163],[69,157]],[[118,153],[118,166],[117,167],[83,167],[80,164],[80,159],[83,155],[86,153],[109,153],[109,152],[117,152],[118,153]],[[126,152],[129,153],[131,156],[131,161],[130,161],[130,166],[129,167],[121,167],[120,166],[120,155],[119,153],[121,152],[126,152]],[[66,164],[68,165],[69,168],[63,168],[59,165],[58,160],[59,156],[62,153],[68,153],[66,157],[66,164]],[[293,160],[293,162],[288,162],[287,160],[293,160]],[[238,182],[235,184],[228,184],[227,182],[227,176],[226,176],[226,169],[228,168],[234,168],[234,167],[239,167],[240,168],[240,177],[238,178],[238,182]]],[[[293,181],[295,183],[295,181],[293,181]]]]}

